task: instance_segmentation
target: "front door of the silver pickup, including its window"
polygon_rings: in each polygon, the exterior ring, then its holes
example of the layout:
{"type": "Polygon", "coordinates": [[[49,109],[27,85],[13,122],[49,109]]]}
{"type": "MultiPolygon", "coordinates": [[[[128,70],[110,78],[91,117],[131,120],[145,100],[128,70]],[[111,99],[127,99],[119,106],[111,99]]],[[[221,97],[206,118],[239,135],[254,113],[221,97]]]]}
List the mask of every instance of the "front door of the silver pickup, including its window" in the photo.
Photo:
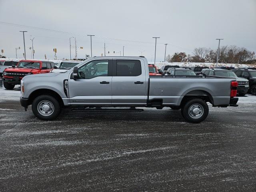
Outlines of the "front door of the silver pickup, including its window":
{"type": "Polygon", "coordinates": [[[111,106],[112,59],[89,61],[78,68],[78,75],[68,80],[71,105],[111,106]]]}

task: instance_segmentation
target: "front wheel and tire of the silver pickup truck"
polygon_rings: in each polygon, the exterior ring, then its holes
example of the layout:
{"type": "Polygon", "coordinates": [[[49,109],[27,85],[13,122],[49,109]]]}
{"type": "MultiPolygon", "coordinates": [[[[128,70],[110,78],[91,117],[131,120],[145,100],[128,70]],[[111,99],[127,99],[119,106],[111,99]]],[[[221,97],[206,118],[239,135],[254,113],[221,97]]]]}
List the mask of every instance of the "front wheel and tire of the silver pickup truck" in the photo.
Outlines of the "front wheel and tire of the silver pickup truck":
{"type": "Polygon", "coordinates": [[[54,120],[60,114],[60,104],[50,95],[40,95],[32,102],[32,112],[41,120],[54,120]]]}

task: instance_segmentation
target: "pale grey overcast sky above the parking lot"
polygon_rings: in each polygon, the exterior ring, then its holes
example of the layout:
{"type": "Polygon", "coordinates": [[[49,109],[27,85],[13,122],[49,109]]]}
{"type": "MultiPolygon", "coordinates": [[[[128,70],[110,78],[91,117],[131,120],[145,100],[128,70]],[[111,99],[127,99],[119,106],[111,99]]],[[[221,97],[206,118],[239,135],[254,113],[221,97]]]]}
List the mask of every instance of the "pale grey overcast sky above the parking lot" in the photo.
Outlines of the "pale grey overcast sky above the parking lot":
{"type": "MultiPolygon", "coordinates": [[[[58,30],[51,32],[0,23],[0,49],[4,55],[22,58],[25,36],[27,58],[31,58],[30,36],[34,37],[35,58],[69,58],[69,38],[77,39],[78,58],[93,56],[139,56],[144,51],[148,61],[154,60],[154,39],[158,36],[156,61],[174,52],[191,54],[195,47],[217,48],[236,45],[256,51],[256,0],[0,0],[0,22],[58,30]],[[80,49],[80,47],[83,49],[80,49]]],[[[71,39],[74,45],[74,39],[71,39]]],[[[72,51],[74,58],[75,51],[72,51]]]]}

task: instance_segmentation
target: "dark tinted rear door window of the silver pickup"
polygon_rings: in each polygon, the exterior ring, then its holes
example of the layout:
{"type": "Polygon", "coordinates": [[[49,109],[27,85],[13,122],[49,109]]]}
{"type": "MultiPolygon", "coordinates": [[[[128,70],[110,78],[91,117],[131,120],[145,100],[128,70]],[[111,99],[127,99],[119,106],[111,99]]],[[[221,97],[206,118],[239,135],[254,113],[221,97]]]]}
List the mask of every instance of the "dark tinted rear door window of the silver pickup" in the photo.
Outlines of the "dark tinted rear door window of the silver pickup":
{"type": "Polygon", "coordinates": [[[139,60],[116,60],[116,76],[140,76],[139,60]]]}

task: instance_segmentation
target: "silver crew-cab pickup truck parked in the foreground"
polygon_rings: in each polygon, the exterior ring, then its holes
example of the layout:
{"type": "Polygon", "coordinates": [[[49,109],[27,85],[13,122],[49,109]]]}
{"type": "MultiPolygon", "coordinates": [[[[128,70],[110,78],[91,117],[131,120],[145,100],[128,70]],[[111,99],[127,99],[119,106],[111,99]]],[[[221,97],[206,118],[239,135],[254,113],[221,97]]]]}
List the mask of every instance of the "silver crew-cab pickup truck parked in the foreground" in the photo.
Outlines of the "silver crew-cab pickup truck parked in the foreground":
{"type": "Polygon", "coordinates": [[[35,74],[21,81],[20,104],[41,120],[74,111],[142,111],[136,107],[181,109],[188,121],[208,116],[208,104],[238,106],[236,78],[149,76],[144,57],[94,57],[62,73],[35,74]],[[122,108],[125,107],[125,108],[122,108]]]}

